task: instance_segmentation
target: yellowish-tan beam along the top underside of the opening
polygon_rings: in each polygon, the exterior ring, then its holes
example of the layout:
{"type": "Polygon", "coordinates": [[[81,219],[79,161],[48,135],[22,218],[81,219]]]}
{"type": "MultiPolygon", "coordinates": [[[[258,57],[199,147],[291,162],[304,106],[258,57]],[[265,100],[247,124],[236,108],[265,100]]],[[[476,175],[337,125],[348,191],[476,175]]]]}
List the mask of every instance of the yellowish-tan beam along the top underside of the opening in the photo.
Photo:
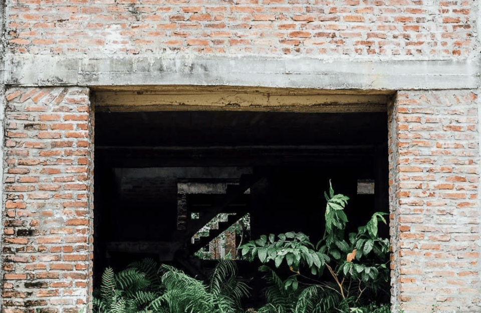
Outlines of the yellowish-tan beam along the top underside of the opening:
{"type": "Polygon", "coordinates": [[[129,111],[282,111],[386,112],[388,92],[352,90],[230,87],[126,86],[95,89],[93,102],[100,112],[129,111]]]}

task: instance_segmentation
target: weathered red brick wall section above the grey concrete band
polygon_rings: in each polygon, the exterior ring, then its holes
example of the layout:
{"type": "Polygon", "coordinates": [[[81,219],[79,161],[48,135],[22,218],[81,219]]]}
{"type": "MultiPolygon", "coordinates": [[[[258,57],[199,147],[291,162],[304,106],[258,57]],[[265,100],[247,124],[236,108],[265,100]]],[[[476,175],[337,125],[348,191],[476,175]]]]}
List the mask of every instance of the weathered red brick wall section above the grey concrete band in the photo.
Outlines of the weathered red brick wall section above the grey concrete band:
{"type": "Polygon", "coordinates": [[[19,54],[467,58],[475,0],[8,2],[19,54]]]}

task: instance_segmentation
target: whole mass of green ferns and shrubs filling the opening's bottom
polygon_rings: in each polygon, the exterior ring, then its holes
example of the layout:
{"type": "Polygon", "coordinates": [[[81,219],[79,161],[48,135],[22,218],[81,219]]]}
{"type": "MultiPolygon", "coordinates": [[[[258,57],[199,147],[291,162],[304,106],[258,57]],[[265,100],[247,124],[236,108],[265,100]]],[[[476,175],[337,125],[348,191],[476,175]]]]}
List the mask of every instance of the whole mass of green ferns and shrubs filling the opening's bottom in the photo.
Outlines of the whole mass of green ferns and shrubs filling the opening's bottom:
{"type": "Polygon", "coordinates": [[[267,282],[265,303],[243,307],[250,295],[233,260],[217,263],[206,281],[192,278],[152,259],[130,264],[115,273],[106,268],[94,291],[99,313],[388,313],[376,301],[388,281],[389,241],[381,238],[374,213],[365,226],[346,233],[344,208],[349,198],[324,193],[327,205],[324,234],[316,244],[302,232],[265,234],[240,247],[249,260],[262,263],[267,282]]]}

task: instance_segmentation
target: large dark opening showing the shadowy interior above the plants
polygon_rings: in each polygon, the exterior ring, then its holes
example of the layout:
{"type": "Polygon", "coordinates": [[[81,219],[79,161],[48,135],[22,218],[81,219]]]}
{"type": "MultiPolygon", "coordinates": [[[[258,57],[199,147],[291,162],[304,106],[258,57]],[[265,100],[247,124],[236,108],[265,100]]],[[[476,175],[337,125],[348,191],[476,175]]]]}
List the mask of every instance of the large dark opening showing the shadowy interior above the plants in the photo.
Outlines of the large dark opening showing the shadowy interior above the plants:
{"type": "Polygon", "coordinates": [[[386,112],[98,111],[95,121],[97,284],[106,266],[146,256],[202,278],[262,234],[316,242],[330,180],[350,197],[349,227],[389,210],[386,112]]]}

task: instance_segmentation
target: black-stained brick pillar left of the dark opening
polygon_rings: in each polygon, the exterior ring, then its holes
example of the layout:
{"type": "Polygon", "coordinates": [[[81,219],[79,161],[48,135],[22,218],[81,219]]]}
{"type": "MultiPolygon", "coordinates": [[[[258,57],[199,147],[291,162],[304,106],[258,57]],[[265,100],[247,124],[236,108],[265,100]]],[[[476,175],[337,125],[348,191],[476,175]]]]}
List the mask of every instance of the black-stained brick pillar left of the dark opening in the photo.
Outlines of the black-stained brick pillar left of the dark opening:
{"type": "Polygon", "coordinates": [[[91,301],[93,112],[87,88],[6,91],[2,311],[91,301]]]}

